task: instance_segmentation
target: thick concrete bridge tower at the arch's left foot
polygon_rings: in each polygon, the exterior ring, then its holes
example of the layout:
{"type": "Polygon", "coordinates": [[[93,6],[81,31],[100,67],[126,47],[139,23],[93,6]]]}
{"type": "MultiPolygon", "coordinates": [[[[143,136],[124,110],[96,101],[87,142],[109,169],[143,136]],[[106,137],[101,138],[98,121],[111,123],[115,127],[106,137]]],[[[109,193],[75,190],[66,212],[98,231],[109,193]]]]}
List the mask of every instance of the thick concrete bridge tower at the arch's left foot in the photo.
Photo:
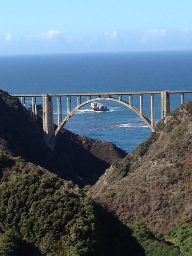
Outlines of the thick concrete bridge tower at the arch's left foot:
{"type": "Polygon", "coordinates": [[[43,129],[44,142],[51,146],[51,140],[54,136],[52,96],[43,94],[43,129]]]}

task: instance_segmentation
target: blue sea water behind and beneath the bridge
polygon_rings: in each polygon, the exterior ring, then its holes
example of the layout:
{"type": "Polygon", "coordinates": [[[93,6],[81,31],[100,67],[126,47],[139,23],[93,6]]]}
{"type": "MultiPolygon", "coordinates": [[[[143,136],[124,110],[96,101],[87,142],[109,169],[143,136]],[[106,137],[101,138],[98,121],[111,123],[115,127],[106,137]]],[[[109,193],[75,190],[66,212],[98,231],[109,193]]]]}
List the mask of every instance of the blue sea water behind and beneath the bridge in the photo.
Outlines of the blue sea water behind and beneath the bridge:
{"type": "MultiPolygon", "coordinates": [[[[0,88],[9,93],[192,90],[192,51],[0,56],[0,88]]],[[[192,100],[192,94],[185,94],[185,100],[192,100]]],[[[133,101],[139,107],[139,97],[135,96],[133,101]]],[[[112,101],[102,103],[111,111],[93,112],[86,105],[65,127],[88,137],[112,141],[127,152],[151,134],[130,109],[112,101]]],[[[180,95],[171,95],[171,109],[179,105],[180,95]]],[[[54,106],[56,123],[56,102],[54,106]]],[[[66,103],[63,106],[64,116],[66,103]]],[[[150,96],[144,97],[144,111],[150,117],[150,96]]],[[[155,96],[155,115],[158,122],[159,95],[155,96]]]]}

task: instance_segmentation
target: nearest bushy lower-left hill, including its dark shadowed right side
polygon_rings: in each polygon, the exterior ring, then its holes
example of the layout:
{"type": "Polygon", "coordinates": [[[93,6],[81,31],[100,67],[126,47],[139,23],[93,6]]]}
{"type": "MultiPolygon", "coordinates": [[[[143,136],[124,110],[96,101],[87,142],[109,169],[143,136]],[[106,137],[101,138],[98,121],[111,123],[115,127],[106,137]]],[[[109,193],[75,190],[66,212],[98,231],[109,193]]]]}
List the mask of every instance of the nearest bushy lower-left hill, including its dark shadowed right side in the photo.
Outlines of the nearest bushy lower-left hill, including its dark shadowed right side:
{"type": "Polygon", "coordinates": [[[0,255],[144,255],[131,230],[77,185],[5,152],[0,166],[0,255]]]}

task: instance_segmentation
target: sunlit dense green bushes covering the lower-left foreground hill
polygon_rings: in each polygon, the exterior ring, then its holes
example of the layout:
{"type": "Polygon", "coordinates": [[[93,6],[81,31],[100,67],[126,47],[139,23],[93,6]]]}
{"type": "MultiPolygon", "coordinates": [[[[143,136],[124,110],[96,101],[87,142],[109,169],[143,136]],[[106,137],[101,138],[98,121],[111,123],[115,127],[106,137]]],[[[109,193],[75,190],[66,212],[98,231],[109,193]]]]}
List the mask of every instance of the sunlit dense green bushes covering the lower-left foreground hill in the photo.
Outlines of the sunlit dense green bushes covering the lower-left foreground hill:
{"type": "MultiPolygon", "coordinates": [[[[1,159],[4,161],[4,155],[1,159]]],[[[6,230],[12,229],[27,243],[35,244],[43,255],[57,250],[55,241],[66,253],[91,253],[95,215],[90,199],[73,183],[19,158],[13,160],[15,165],[4,170],[0,184],[0,222],[6,230]]]]}

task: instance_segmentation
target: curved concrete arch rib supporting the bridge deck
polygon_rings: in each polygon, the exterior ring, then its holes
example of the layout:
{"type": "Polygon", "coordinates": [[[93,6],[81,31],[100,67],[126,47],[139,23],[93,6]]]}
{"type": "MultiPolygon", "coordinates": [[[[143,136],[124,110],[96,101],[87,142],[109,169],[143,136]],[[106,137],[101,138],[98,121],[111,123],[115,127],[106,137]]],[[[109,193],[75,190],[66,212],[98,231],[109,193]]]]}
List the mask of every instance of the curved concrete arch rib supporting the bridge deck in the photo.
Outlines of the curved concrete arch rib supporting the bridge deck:
{"type": "Polygon", "coordinates": [[[82,108],[84,105],[87,105],[90,102],[95,102],[97,100],[111,100],[114,102],[118,102],[122,105],[125,105],[126,107],[130,108],[132,111],[134,111],[138,116],[140,116],[140,118],[143,119],[143,121],[148,125],[148,127],[151,129],[151,131],[154,131],[154,127],[151,126],[151,121],[148,119],[147,116],[145,116],[144,113],[140,113],[140,111],[134,106],[134,105],[130,105],[128,102],[122,100],[122,99],[116,99],[113,97],[98,97],[98,98],[94,98],[94,99],[89,99],[81,104],[79,104],[76,108],[74,108],[60,123],[60,125],[58,126],[58,128],[55,130],[55,136],[52,139],[52,143],[51,143],[51,149],[54,150],[55,148],[55,143],[56,140],[58,139],[58,135],[60,134],[62,128],[64,127],[64,125],[69,121],[69,119],[71,118],[71,116],[73,116],[80,108],[82,108]]]}

